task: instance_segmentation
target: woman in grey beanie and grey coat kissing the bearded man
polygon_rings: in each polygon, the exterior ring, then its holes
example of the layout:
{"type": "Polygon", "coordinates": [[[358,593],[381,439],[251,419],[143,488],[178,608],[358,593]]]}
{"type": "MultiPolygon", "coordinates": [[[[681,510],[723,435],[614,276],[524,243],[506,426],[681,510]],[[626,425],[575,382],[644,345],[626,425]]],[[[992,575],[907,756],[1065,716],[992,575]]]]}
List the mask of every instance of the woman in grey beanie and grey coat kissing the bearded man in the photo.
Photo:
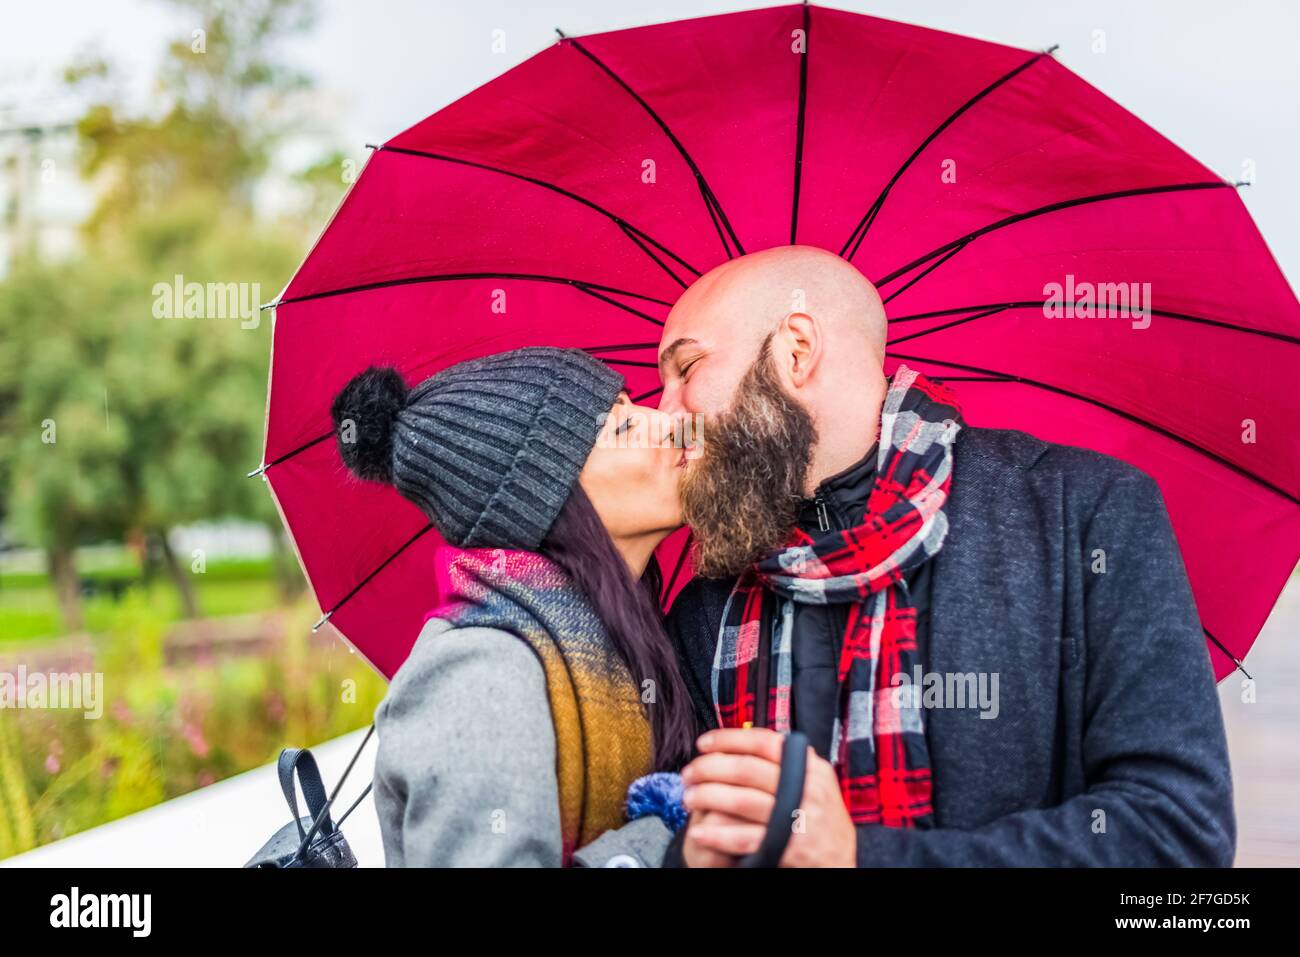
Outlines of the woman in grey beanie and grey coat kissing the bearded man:
{"type": "Polygon", "coordinates": [[[694,731],[655,599],[686,460],[667,416],[585,352],[536,347],[410,390],[367,369],[333,417],[352,473],[455,546],[376,711],[389,866],[656,866],[667,826],[623,806],[694,731]]]}

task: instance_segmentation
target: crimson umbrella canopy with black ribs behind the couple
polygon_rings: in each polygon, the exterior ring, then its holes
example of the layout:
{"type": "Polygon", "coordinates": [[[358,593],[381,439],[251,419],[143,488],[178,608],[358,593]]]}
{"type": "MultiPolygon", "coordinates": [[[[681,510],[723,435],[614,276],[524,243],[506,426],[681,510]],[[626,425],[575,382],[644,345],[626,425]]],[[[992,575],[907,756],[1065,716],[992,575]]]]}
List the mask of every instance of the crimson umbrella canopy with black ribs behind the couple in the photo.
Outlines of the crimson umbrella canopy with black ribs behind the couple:
{"type": "Polygon", "coordinates": [[[259,469],[330,624],[391,676],[437,598],[338,458],[351,376],[575,346],[653,400],[682,289],[786,243],[876,283],[887,372],[1152,475],[1232,670],[1300,553],[1300,304],[1234,185],[1050,52],[800,5],[562,36],[374,150],[276,303],[259,469]]]}

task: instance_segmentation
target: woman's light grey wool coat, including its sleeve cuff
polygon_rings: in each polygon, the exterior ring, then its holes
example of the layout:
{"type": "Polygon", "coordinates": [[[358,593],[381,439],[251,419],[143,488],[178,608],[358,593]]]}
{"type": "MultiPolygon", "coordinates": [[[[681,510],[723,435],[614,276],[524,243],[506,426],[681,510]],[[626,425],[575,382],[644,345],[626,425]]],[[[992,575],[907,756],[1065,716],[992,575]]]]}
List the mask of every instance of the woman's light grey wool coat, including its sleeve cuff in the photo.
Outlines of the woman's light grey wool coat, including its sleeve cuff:
{"type": "MultiPolygon", "coordinates": [[[[559,867],[555,729],[532,648],[430,619],[374,713],[374,806],[389,867],[559,867]]],[[[607,831],[580,867],[658,867],[659,818],[607,831]]]]}

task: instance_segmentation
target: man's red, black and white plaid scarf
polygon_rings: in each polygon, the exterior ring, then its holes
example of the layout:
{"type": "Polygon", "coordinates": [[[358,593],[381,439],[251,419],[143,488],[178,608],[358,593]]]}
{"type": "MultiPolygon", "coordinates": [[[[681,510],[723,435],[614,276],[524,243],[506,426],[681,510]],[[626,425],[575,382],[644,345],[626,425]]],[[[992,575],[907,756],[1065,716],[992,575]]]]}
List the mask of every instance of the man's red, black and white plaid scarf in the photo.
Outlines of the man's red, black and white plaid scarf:
{"type": "Polygon", "coordinates": [[[736,583],[719,632],[714,702],[719,724],[790,729],[793,603],[853,602],[840,653],[831,762],[854,823],[931,827],[930,752],[920,688],[910,684],[916,610],[904,576],[939,551],[962,426],[942,385],[900,365],[885,394],[876,477],[859,525],[785,547],[736,583]],[[766,646],[766,648],[764,648],[766,646]],[[767,714],[757,722],[760,671],[767,714]],[[904,675],[907,684],[894,684],[904,675]]]}

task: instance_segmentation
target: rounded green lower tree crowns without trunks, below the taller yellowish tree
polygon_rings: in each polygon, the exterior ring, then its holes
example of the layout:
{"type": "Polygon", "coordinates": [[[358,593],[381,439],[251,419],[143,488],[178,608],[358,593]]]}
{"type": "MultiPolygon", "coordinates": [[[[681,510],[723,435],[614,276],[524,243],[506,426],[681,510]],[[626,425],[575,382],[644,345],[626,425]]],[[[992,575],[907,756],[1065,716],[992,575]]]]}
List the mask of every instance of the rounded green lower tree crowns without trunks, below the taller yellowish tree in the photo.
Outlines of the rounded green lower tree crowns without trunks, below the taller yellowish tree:
{"type": "Polygon", "coordinates": [[[276,289],[299,246],[209,212],[216,225],[200,234],[178,239],[173,221],[153,222],[125,235],[118,255],[22,263],[0,285],[16,386],[13,441],[0,456],[21,540],[75,545],[204,518],[273,520],[265,490],[243,480],[261,455],[269,322],[155,317],[153,290],[176,274],[276,289]]]}

